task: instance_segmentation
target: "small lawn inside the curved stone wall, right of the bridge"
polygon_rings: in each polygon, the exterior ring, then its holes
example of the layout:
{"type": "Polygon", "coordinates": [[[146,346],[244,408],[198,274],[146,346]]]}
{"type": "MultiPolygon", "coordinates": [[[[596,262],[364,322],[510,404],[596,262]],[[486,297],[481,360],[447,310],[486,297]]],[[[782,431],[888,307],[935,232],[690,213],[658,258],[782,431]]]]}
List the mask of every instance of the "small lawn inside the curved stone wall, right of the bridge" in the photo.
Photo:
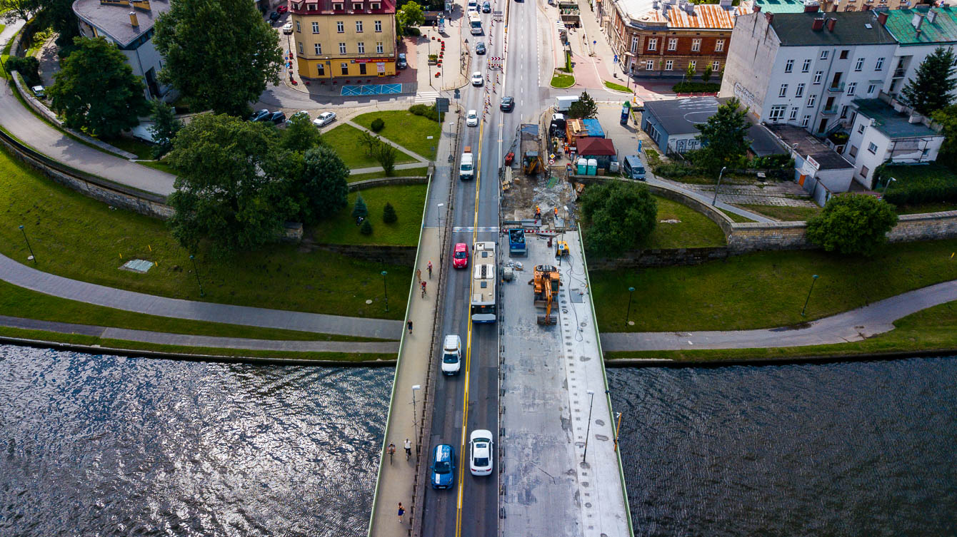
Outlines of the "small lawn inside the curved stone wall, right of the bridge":
{"type": "Polygon", "coordinates": [[[695,209],[655,196],[658,205],[655,231],[650,248],[723,247],[724,232],[717,224],[695,209]],[[679,224],[662,224],[662,220],[680,220],[679,224]]]}

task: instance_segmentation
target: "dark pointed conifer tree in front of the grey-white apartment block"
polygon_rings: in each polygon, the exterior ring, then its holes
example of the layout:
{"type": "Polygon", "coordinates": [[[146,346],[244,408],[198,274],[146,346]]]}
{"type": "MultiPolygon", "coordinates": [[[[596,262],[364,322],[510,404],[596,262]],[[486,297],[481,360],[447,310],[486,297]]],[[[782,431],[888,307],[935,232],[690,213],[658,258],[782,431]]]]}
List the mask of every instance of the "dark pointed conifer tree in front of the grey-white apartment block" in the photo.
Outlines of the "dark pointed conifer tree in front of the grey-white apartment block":
{"type": "Polygon", "coordinates": [[[731,97],[718,107],[718,112],[704,123],[695,125],[701,134],[696,163],[708,173],[717,174],[723,166],[741,161],[747,153],[745,135],[751,124],[747,122],[747,109],[740,107],[737,98],[731,97]]]}

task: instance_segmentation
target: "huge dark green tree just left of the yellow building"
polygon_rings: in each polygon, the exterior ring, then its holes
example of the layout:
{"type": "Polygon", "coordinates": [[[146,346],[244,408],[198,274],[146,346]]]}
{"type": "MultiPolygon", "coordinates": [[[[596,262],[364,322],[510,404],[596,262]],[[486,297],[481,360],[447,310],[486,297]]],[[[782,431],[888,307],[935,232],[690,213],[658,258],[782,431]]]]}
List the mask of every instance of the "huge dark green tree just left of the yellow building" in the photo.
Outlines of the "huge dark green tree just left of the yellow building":
{"type": "Polygon", "coordinates": [[[178,89],[192,110],[245,118],[249,102],[279,83],[276,31],[252,2],[176,0],[155,29],[153,43],[166,58],[160,80],[178,89]]]}

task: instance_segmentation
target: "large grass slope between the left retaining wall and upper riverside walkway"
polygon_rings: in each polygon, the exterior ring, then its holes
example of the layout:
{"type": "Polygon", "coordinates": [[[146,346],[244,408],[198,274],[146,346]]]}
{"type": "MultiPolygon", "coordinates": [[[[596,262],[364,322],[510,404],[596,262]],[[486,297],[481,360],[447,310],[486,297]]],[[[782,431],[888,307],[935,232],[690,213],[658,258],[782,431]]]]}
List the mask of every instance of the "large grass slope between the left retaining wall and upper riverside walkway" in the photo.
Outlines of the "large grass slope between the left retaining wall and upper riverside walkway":
{"type": "MultiPolygon", "coordinates": [[[[421,215],[421,204],[416,210],[421,215]]],[[[414,220],[419,226],[419,217],[414,220]]],[[[189,254],[163,222],[111,210],[0,152],[0,253],[26,263],[29,252],[17,228],[21,224],[33,245],[37,269],[174,298],[399,319],[407,299],[403,290],[412,280],[411,267],[386,268],[393,290],[387,312],[379,275],[383,268],[378,263],[329,252],[300,252],[295,245],[272,245],[227,260],[211,259],[200,251],[197,262],[206,290],[206,297],[200,298],[189,254]],[[119,270],[129,259],[155,261],[158,267],[145,274],[119,270]],[[367,305],[366,300],[372,303],[367,305]]]]}

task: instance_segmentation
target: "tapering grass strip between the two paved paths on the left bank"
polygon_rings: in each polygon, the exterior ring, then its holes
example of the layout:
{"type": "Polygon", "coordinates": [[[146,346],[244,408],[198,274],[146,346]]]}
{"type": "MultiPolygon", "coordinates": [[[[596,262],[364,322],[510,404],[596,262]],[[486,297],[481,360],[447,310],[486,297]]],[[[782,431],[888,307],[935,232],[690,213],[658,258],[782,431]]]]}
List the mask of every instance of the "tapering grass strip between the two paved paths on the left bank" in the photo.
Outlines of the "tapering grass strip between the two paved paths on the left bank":
{"type": "Polygon", "coordinates": [[[4,281],[0,281],[0,315],[151,332],[189,333],[192,335],[217,335],[249,339],[375,341],[375,339],[350,335],[258,328],[114,310],[16,287],[4,281]]]}

